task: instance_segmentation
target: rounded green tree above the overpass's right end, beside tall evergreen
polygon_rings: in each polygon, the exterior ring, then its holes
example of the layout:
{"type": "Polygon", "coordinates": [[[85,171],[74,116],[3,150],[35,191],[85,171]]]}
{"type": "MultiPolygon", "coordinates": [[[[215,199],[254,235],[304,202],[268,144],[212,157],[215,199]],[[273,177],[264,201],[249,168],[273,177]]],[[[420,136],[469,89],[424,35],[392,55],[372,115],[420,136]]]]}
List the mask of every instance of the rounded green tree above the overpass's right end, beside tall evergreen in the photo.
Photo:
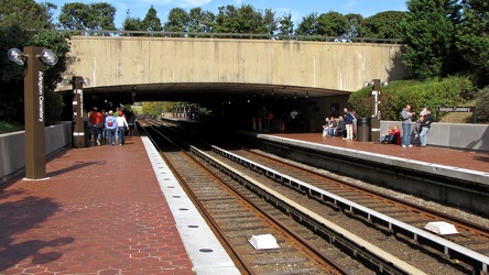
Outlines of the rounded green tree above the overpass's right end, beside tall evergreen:
{"type": "Polygon", "coordinates": [[[402,38],[401,22],[406,12],[379,12],[363,21],[365,37],[373,38],[402,38]]]}

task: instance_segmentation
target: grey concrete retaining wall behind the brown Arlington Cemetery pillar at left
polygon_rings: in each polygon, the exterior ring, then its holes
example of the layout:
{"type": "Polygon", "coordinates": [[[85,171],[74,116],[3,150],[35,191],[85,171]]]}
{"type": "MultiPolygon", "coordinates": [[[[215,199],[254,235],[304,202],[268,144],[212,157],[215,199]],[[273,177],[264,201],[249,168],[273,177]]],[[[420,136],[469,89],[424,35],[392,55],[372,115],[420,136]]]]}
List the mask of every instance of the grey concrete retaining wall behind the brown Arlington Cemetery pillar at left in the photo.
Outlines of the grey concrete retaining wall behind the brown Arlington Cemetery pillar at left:
{"type": "MultiPolygon", "coordinates": [[[[72,122],[46,127],[46,156],[72,144],[72,122]]],[[[25,132],[0,134],[0,183],[25,168],[25,132]]]]}

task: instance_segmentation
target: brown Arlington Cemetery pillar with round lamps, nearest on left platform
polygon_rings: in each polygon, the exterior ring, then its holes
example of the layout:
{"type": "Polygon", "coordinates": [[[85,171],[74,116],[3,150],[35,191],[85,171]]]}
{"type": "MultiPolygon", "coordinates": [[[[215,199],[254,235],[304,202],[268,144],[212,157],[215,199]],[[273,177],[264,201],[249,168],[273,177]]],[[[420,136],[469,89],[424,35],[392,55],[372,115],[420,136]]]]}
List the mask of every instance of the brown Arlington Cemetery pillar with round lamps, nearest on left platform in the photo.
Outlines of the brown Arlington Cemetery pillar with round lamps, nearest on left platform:
{"type": "Polygon", "coordinates": [[[25,114],[25,178],[46,178],[46,144],[44,116],[44,70],[43,63],[54,66],[57,56],[51,50],[26,46],[8,52],[9,59],[18,65],[26,63],[24,74],[25,114]]]}

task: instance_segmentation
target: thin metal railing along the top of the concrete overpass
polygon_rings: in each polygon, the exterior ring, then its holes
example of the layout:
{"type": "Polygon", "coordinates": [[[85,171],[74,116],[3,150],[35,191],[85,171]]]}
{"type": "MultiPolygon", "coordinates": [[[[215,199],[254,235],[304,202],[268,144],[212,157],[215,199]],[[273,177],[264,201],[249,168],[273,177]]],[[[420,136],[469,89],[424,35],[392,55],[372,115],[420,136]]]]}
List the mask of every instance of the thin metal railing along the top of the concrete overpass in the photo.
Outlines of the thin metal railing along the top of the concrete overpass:
{"type": "Polygon", "coordinates": [[[282,35],[261,33],[205,33],[205,32],[154,32],[154,31],[119,31],[119,30],[56,30],[73,35],[84,36],[150,36],[150,37],[188,37],[188,38],[247,38],[247,40],[278,40],[278,41],[311,41],[337,43],[383,43],[402,44],[402,40],[376,37],[345,37],[323,35],[282,35]]]}

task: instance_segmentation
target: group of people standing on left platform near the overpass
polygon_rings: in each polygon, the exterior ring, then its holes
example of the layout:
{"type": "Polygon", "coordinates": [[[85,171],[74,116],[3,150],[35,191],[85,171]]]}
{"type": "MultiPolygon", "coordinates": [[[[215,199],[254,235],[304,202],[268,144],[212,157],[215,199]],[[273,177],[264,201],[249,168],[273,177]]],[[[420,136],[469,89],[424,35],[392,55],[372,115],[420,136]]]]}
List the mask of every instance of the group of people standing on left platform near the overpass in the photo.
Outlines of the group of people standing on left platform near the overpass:
{"type": "Polygon", "coordinates": [[[135,117],[132,112],[124,112],[119,108],[116,112],[109,110],[98,111],[97,107],[94,107],[91,111],[87,113],[85,118],[88,124],[89,140],[100,145],[102,142],[107,142],[109,145],[119,145],[126,143],[126,132],[129,135],[133,135],[135,117]],[[128,119],[126,119],[128,117],[128,119]]]}

